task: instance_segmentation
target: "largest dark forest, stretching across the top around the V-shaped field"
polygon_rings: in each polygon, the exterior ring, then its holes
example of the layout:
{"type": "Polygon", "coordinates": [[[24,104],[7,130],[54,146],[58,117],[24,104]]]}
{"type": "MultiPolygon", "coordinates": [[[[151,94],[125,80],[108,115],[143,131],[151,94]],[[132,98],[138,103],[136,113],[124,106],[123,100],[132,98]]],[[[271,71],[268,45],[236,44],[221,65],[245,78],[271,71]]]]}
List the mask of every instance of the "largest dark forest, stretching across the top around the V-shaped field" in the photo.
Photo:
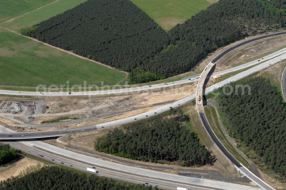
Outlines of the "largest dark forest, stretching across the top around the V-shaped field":
{"type": "Polygon", "coordinates": [[[285,23],[285,0],[220,0],[166,33],[128,0],[89,0],[22,34],[128,71],[129,83],[143,83],[187,72],[217,48],[285,23]]]}

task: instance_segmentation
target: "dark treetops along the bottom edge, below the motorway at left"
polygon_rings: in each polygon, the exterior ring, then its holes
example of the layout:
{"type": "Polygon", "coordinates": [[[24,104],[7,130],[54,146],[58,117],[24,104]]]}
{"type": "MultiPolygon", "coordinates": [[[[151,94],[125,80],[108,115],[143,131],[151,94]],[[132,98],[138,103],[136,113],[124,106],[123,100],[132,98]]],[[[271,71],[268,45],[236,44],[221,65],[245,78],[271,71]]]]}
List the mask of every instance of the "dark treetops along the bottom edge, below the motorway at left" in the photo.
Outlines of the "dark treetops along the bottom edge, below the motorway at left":
{"type": "MultiPolygon", "coordinates": [[[[23,177],[0,181],[2,190],[62,189],[62,190],[151,190],[152,186],[121,185],[116,181],[96,175],[86,176],[56,166],[43,167],[23,177]]],[[[155,187],[155,189],[158,189],[155,187]]]]}

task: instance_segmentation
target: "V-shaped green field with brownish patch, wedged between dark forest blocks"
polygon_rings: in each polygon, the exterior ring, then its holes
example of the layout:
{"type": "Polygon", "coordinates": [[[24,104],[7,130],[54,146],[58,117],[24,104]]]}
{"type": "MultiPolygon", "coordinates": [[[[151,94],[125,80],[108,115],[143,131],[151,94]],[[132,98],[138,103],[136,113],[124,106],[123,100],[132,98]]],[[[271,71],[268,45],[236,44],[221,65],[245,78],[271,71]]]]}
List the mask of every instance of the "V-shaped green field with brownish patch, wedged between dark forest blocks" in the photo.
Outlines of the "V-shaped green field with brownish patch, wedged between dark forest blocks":
{"type": "Polygon", "coordinates": [[[215,0],[131,0],[147,13],[162,29],[169,31],[178,23],[184,23],[215,0]]]}

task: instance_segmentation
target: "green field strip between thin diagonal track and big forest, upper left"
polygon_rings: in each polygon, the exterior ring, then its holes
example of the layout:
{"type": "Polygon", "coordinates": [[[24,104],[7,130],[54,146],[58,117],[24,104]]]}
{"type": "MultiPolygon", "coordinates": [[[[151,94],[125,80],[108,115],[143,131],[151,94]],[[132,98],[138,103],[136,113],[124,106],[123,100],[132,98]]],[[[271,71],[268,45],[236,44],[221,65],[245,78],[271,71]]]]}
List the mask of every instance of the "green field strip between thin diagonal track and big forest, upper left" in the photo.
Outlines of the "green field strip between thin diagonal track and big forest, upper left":
{"type": "MultiPolygon", "coordinates": [[[[36,1],[36,0],[32,0],[32,1],[36,1]]],[[[44,1],[44,0],[41,0],[41,1],[44,1]]],[[[37,23],[40,23],[41,21],[47,20],[55,15],[63,13],[64,11],[68,9],[76,7],[77,5],[85,1],[87,0],[58,0],[58,1],[55,1],[54,3],[51,3],[50,5],[47,5],[33,12],[27,13],[21,17],[18,17],[14,19],[13,21],[3,23],[0,25],[0,27],[19,32],[21,28],[29,27],[37,23]]],[[[19,3],[15,3],[15,4],[19,4],[19,3]]],[[[12,11],[11,11],[11,14],[12,14],[12,11]]]]}

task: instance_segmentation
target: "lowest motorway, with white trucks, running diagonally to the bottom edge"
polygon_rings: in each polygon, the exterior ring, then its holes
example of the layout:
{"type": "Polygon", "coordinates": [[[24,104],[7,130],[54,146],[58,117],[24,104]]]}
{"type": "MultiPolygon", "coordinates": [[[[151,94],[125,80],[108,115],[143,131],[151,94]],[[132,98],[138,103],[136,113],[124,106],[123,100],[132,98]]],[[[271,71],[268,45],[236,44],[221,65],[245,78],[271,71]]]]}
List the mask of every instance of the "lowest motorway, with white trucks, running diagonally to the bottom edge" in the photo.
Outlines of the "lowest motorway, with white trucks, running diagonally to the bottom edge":
{"type": "Polygon", "coordinates": [[[164,189],[176,189],[176,187],[184,187],[188,189],[258,189],[257,187],[251,187],[248,185],[241,185],[237,183],[227,183],[222,181],[215,181],[209,179],[200,179],[193,177],[185,177],[172,173],[158,172],[133,166],[122,165],[97,159],[87,155],[74,153],[66,149],[62,149],[48,143],[31,140],[31,141],[12,141],[8,142],[11,146],[29,154],[36,156],[42,155],[43,159],[54,161],[54,163],[61,164],[63,162],[65,166],[80,169],[86,171],[87,167],[96,167],[98,170],[97,175],[112,177],[114,179],[120,179],[123,181],[129,181],[132,183],[149,183],[150,185],[158,185],[159,188],[164,189]],[[29,152],[30,151],[30,152],[29,152]]]}

